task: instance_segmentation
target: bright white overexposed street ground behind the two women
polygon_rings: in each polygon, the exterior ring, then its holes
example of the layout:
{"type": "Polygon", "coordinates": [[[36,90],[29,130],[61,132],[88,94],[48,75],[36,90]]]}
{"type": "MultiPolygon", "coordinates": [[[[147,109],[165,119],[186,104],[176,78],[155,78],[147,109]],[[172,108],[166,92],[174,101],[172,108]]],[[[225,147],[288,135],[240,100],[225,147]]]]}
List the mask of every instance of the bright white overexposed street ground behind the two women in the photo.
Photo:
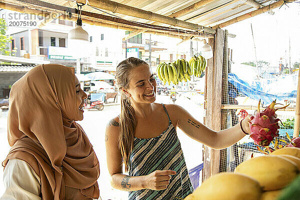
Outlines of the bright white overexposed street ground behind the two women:
{"type": "MultiPolygon", "coordinates": [[[[119,99],[119,98],[118,98],[119,99]]],[[[169,96],[158,95],[156,102],[172,103],[169,96]]],[[[184,107],[199,121],[203,120],[203,106],[181,95],[175,101],[184,107]]],[[[83,127],[100,163],[100,176],[98,179],[100,195],[102,199],[127,199],[126,191],[119,191],[110,186],[110,178],[106,167],[104,132],[109,119],[119,113],[120,105],[105,106],[102,111],[85,110],[84,119],[78,123],[83,127]]],[[[202,162],[202,145],[185,135],[177,128],[177,134],[181,142],[187,168],[190,169],[202,162]]],[[[9,150],[7,142],[7,111],[2,112],[0,117],[0,160],[2,161],[9,150]]],[[[0,195],[3,193],[2,170],[0,170],[0,195]]]]}

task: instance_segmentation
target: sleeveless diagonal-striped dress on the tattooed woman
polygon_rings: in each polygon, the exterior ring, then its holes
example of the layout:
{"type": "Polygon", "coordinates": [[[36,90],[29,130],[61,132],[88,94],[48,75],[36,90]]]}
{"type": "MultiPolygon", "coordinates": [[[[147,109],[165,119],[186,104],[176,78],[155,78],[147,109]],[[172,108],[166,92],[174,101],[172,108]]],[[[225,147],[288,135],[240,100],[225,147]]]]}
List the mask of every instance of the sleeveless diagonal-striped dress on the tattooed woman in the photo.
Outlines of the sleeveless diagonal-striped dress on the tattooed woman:
{"type": "Polygon", "coordinates": [[[129,200],[183,199],[193,191],[176,129],[165,106],[162,106],[168,118],[168,127],[153,138],[134,137],[133,150],[129,156],[129,175],[147,175],[157,169],[174,170],[176,174],[172,175],[166,189],[129,191],[129,200]]]}

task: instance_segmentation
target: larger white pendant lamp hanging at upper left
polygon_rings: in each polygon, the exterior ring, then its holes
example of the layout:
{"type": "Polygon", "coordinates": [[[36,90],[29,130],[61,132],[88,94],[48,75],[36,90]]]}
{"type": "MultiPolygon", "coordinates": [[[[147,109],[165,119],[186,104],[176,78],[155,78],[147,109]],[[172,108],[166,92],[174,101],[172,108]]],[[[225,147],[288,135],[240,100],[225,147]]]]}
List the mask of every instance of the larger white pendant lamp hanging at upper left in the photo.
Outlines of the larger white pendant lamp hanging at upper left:
{"type": "Polygon", "coordinates": [[[67,34],[67,47],[71,55],[75,58],[86,57],[89,54],[88,33],[82,28],[81,7],[83,4],[78,4],[78,19],[76,27],[71,29],[67,34]]]}

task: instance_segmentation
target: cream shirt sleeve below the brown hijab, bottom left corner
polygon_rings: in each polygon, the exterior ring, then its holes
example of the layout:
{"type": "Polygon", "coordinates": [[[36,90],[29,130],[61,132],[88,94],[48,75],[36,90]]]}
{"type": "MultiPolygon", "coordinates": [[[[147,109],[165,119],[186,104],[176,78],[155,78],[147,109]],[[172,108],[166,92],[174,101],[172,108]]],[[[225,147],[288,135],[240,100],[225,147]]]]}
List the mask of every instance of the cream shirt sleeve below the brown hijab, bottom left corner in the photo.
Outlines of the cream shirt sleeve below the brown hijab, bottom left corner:
{"type": "Polygon", "coordinates": [[[0,200],[41,200],[40,178],[27,162],[9,159],[3,173],[4,194],[0,200]]]}

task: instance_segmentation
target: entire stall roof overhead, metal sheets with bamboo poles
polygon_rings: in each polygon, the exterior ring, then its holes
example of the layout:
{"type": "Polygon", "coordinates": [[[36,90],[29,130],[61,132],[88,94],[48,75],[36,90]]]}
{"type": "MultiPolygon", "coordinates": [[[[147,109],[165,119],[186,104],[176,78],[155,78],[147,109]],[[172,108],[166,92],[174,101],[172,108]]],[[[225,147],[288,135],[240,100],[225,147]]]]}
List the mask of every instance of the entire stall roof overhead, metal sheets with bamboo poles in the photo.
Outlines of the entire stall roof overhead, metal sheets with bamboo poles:
{"type": "Polygon", "coordinates": [[[215,28],[295,0],[2,0],[0,8],[39,15],[56,12],[55,18],[76,21],[76,1],[84,3],[83,23],[130,30],[131,37],[146,32],[185,39],[212,38],[215,28]]]}

